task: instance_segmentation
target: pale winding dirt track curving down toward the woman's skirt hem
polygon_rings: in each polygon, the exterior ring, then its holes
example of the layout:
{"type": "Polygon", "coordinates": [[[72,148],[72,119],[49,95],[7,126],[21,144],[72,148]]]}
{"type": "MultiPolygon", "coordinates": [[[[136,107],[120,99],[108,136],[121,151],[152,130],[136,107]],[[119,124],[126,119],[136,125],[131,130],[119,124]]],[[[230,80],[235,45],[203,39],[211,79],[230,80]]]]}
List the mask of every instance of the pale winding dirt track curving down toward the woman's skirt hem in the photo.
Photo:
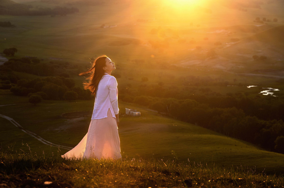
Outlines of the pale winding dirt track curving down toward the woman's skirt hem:
{"type": "Polygon", "coordinates": [[[50,141],[47,141],[45,139],[43,139],[42,137],[40,137],[39,135],[31,132],[31,131],[28,131],[27,129],[24,129],[20,124],[18,124],[13,118],[11,117],[8,117],[8,116],[4,116],[2,114],[0,114],[0,117],[3,117],[5,119],[7,119],[8,121],[10,121],[12,124],[14,124],[16,127],[18,127],[19,129],[21,129],[23,132],[27,133],[28,135],[34,137],[35,139],[37,139],[38,141],[42,142],[43,144],[47,144],[47,145],[51,145],[51,146],[54,146],[54,147],[60,147],[60,148],[63,148],[63,149],[72,149],[71,147],[68,147],[68,146],[64,146],[64,145],[58,145],[58,144],[53,144],[51,143],[50,141]]]}

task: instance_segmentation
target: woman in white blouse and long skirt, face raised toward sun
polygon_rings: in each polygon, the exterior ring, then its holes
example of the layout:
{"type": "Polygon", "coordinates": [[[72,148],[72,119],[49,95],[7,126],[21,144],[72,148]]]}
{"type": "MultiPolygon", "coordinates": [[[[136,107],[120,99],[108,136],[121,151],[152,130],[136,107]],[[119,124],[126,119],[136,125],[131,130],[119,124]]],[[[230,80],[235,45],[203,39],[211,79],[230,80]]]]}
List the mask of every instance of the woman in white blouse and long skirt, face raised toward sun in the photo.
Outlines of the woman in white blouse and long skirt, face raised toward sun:
{"type": "Polygon", "coordinates": [[[75,148],[62,157],[66,158],[121,158],[118,135],[117,81],[110,76],[115,70],[114,62],[103,55],[98,57],[90,70],[79,75],[91,73],[90,80],[84,84],[95,96],[95,104],[89,130],[75,148]]]}

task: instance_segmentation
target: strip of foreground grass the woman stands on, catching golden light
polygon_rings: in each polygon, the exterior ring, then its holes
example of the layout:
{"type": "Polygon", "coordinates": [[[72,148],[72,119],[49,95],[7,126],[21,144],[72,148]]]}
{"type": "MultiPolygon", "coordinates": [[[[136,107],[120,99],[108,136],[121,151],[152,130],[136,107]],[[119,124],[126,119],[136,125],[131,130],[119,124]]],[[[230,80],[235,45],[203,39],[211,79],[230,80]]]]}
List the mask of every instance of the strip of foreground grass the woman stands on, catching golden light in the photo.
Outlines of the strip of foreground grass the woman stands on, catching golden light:
{"type": "Polygon", "coordinates": [[[254,168],[141,157],[66,160],[60,151],[33,154],[0,149],[0,183],[7,187],[283,187],[283,175],[254,168]]]}

